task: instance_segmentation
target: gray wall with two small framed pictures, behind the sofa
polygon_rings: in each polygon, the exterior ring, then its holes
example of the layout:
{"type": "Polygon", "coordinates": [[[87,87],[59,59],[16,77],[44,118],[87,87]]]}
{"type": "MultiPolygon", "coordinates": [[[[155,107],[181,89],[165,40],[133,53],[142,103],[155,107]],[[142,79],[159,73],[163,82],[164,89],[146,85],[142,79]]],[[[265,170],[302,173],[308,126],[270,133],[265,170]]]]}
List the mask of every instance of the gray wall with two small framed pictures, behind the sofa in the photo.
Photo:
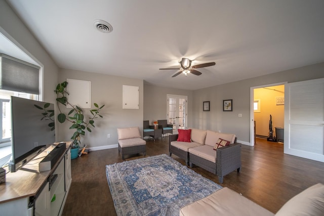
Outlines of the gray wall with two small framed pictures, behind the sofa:
{"type": "Polygon", "coordinates": [[[217,85],[193,92],[193,127],[233,133],[239,141],[250,143],[250,89],[260,85],[297,82],[324,77],[324,63],[295,68],[251,79],[217,85]],[[223,112],[223,100],[233,99],[233,111],[223,112]],[[210,112],[203,102],[210,101],[210,112]],[[238,117],[238,113],[242,117],[238,117]]]}

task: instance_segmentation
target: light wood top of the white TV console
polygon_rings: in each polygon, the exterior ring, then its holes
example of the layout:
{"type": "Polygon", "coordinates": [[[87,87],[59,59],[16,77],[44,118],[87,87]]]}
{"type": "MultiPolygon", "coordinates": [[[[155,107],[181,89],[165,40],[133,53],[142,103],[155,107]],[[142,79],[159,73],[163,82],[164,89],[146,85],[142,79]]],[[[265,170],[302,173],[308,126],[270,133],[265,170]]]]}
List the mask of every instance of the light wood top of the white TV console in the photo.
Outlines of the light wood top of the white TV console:
{"type": "MultiPolygon", "coordinates": [[[[71,142],[66,142],[66,150],[69,150],[71,142]]],[[[38,163],[52,151],[55,147],[50,146],[41,154],[37,155],[34,159],[29,161],[24,168],[33,169],[38,171],[38,163]]],[[[59,165],[60,161],[65,155],[62,154],[60,159],[56,162],[53,169],[42,172],[30,172],[19,169],[16,172],[8,172],[8,166],[5,168],[6,172],[6,183],[0,184],[0,203],[8,202],[15,199],[24,197],[35,196],[42,185],[47,181],[48,177],[52,174],[55,168],[59,165]]]]}

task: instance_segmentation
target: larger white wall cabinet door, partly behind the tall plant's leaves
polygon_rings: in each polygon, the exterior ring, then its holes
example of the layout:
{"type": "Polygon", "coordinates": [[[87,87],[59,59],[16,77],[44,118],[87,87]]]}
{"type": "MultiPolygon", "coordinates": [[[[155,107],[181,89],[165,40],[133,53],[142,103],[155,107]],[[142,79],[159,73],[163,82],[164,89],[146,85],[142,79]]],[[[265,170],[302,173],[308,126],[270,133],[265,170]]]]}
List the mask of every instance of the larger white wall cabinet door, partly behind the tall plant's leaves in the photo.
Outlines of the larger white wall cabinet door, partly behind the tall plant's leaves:
{"type": "MultiPolygon", "coordinates": [[[[77,105],[80,108],[91,108],[91,81],[66,79],[67,100],[72,105],[77,105]]],[[[66,105],[66,108],[72,108],[66,105]]]]}

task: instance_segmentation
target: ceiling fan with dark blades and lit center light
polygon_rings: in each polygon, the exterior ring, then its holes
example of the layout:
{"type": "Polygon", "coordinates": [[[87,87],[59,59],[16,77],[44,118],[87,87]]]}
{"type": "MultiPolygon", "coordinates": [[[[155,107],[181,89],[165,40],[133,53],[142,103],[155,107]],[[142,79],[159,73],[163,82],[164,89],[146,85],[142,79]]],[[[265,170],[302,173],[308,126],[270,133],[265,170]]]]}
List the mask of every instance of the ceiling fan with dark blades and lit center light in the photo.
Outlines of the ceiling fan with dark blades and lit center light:
{"type": "Polygon", "coordinates": [[[185,76],[188,75],[188,73],[192,73],[194,75],[199,76],[201,74],[201,72],[195,70],[196,68],[202,68],[202,67],[209,67],[209,66],[213,66],[216,63],[215,62],[208,62],[208,63],[204,63],[204,64],[198,64],[198,65],[192,65],[193,60],[190,60],[188,58],[182,58],[180,63],[181,68],[160,68],[160,70],[180,70],[179,72],[177,72],[176,74],[174,74],[172,77],[178,76],[180,73],[184,73],[185,76]]]}

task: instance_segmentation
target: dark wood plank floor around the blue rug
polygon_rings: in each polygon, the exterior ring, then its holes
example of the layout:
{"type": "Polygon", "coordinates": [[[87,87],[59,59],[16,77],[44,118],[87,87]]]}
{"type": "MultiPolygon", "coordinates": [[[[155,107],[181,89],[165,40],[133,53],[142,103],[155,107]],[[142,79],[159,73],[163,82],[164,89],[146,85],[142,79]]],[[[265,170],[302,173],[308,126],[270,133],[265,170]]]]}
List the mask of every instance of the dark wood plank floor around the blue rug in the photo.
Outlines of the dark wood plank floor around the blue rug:
{"type": "MultiPolygon", "coordinates": [[[[147,141],[146,156],[168,154],[168,139],[147,141]]],[[[266,209],[276,212],[290,198],[316,184],[324,184],[324,163],[284,154],[282,143],[257,139],[254,147],[242,145],[242,168],[224,177],[192,169],[215,183],[229,187],[266,209]]],[[[135,155],[126,160],[142,158],[135,155]]],[[[184,165],[184,160],[172,155],[184,165]]],[[[118,149],[93,151],[71,161],[72,184],[63,215],[116,215],[105,165],[123,161],[118,149]]]]}

